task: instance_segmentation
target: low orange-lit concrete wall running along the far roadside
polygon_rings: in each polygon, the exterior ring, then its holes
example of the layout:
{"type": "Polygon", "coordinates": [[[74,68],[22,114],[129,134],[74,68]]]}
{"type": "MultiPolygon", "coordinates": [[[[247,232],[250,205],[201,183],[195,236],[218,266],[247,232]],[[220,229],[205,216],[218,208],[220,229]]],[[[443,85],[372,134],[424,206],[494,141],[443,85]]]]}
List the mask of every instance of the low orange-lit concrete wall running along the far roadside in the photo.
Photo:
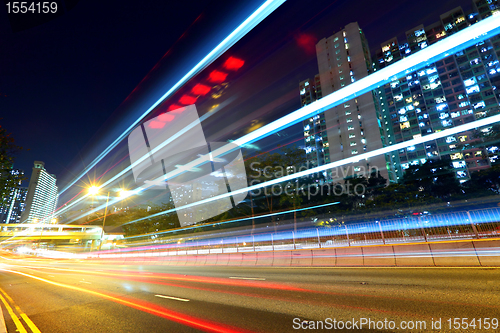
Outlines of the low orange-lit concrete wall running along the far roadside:
{"type": "MultiPolygon", "coordinates": [[[[112,258],[89,258],[102,263],[174,266],[500,266],[500,239],[462,240],[326,249],[283,250],[244,253],[175,255],[150,251],[112,258]]],[[[95,254],[93,254],[95,256],[95,254]]]]}

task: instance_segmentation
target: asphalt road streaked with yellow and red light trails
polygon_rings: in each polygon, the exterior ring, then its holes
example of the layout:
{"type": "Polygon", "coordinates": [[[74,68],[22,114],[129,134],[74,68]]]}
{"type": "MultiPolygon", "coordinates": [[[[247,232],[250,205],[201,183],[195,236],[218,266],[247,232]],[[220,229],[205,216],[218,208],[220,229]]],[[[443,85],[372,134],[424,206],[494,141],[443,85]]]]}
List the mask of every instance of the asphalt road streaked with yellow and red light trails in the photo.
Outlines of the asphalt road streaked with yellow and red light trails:
{"type": "Polygon", "coordinates": [[[358,331],[431,332],[441,318],[435,332],[470,332],[464,324],[449,329],[447,320],[475,318],[480,331],[478,319],[500,319],[496,268],[162,267],[0,256],[12,333],[294,332],[327,318],[319,331],[346,331],[342,321],[357,322],[358,331]],[[337,329],[326,329],[334,319],[337,329]]]}

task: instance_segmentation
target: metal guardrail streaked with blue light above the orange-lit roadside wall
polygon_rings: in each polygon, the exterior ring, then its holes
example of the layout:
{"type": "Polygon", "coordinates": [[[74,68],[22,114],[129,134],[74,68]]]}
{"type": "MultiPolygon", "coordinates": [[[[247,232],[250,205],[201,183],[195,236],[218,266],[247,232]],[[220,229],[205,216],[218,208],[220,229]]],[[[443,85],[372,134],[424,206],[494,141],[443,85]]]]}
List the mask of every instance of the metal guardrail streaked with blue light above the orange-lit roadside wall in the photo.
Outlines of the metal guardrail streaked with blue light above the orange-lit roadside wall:
{"type": "Polygon", "coordinates": [[[161,255],[258,252],[321,249],[343,246],[402,244],[443,240],[500,237],[500,208],[459,211],[437,215],[336,223],[296,231],[232,235],[231,231],[188,238],[151,239],[149,245],[105,251],[161,252],[161,255]]]}

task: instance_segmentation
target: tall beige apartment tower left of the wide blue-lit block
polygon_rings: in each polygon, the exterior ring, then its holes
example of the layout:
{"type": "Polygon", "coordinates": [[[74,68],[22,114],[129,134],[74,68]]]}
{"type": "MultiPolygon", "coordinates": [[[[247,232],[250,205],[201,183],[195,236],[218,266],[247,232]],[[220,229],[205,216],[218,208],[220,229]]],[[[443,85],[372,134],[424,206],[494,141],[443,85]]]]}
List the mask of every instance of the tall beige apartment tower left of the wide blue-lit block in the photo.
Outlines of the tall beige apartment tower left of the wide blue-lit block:
{"type": "MultiPolygon", "coordinates": [[[[316,55],[319,74],[314,82],[306,80],[300,83],[302,105],[339,90],[371,72],[368,43],[357,23],[350,23],[334,35],[320,40],[316,44],[316,55]]],[[[308,161],[312,165],[321,165],[382,148],[384,132],[379,116],[378,103],[373,93],[369,92],[305,120],[308,161]]],[[[337,171],[336,175],[367,176],[376,169],[382,176],[389,178],[387,168],[390,165],[386,156],[381,155],[344,166],[344,170],[337,171]]],[[[336,175],[332,173],[334,181],[338,181],[336,175]]]]}

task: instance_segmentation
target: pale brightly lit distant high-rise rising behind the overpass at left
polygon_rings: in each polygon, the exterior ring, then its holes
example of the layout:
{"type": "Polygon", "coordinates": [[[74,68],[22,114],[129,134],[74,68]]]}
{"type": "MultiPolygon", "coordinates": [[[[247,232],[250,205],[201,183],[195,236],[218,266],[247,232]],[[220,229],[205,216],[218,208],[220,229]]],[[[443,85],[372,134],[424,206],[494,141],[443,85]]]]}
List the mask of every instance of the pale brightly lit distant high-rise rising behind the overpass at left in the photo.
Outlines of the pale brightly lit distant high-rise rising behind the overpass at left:
{"type": "Polygon", "coordinates": [[[50,223],[57,204],[56,176],[47,173],[45,163],[35,161],[26,196],[22,223],[50,223]]]}

